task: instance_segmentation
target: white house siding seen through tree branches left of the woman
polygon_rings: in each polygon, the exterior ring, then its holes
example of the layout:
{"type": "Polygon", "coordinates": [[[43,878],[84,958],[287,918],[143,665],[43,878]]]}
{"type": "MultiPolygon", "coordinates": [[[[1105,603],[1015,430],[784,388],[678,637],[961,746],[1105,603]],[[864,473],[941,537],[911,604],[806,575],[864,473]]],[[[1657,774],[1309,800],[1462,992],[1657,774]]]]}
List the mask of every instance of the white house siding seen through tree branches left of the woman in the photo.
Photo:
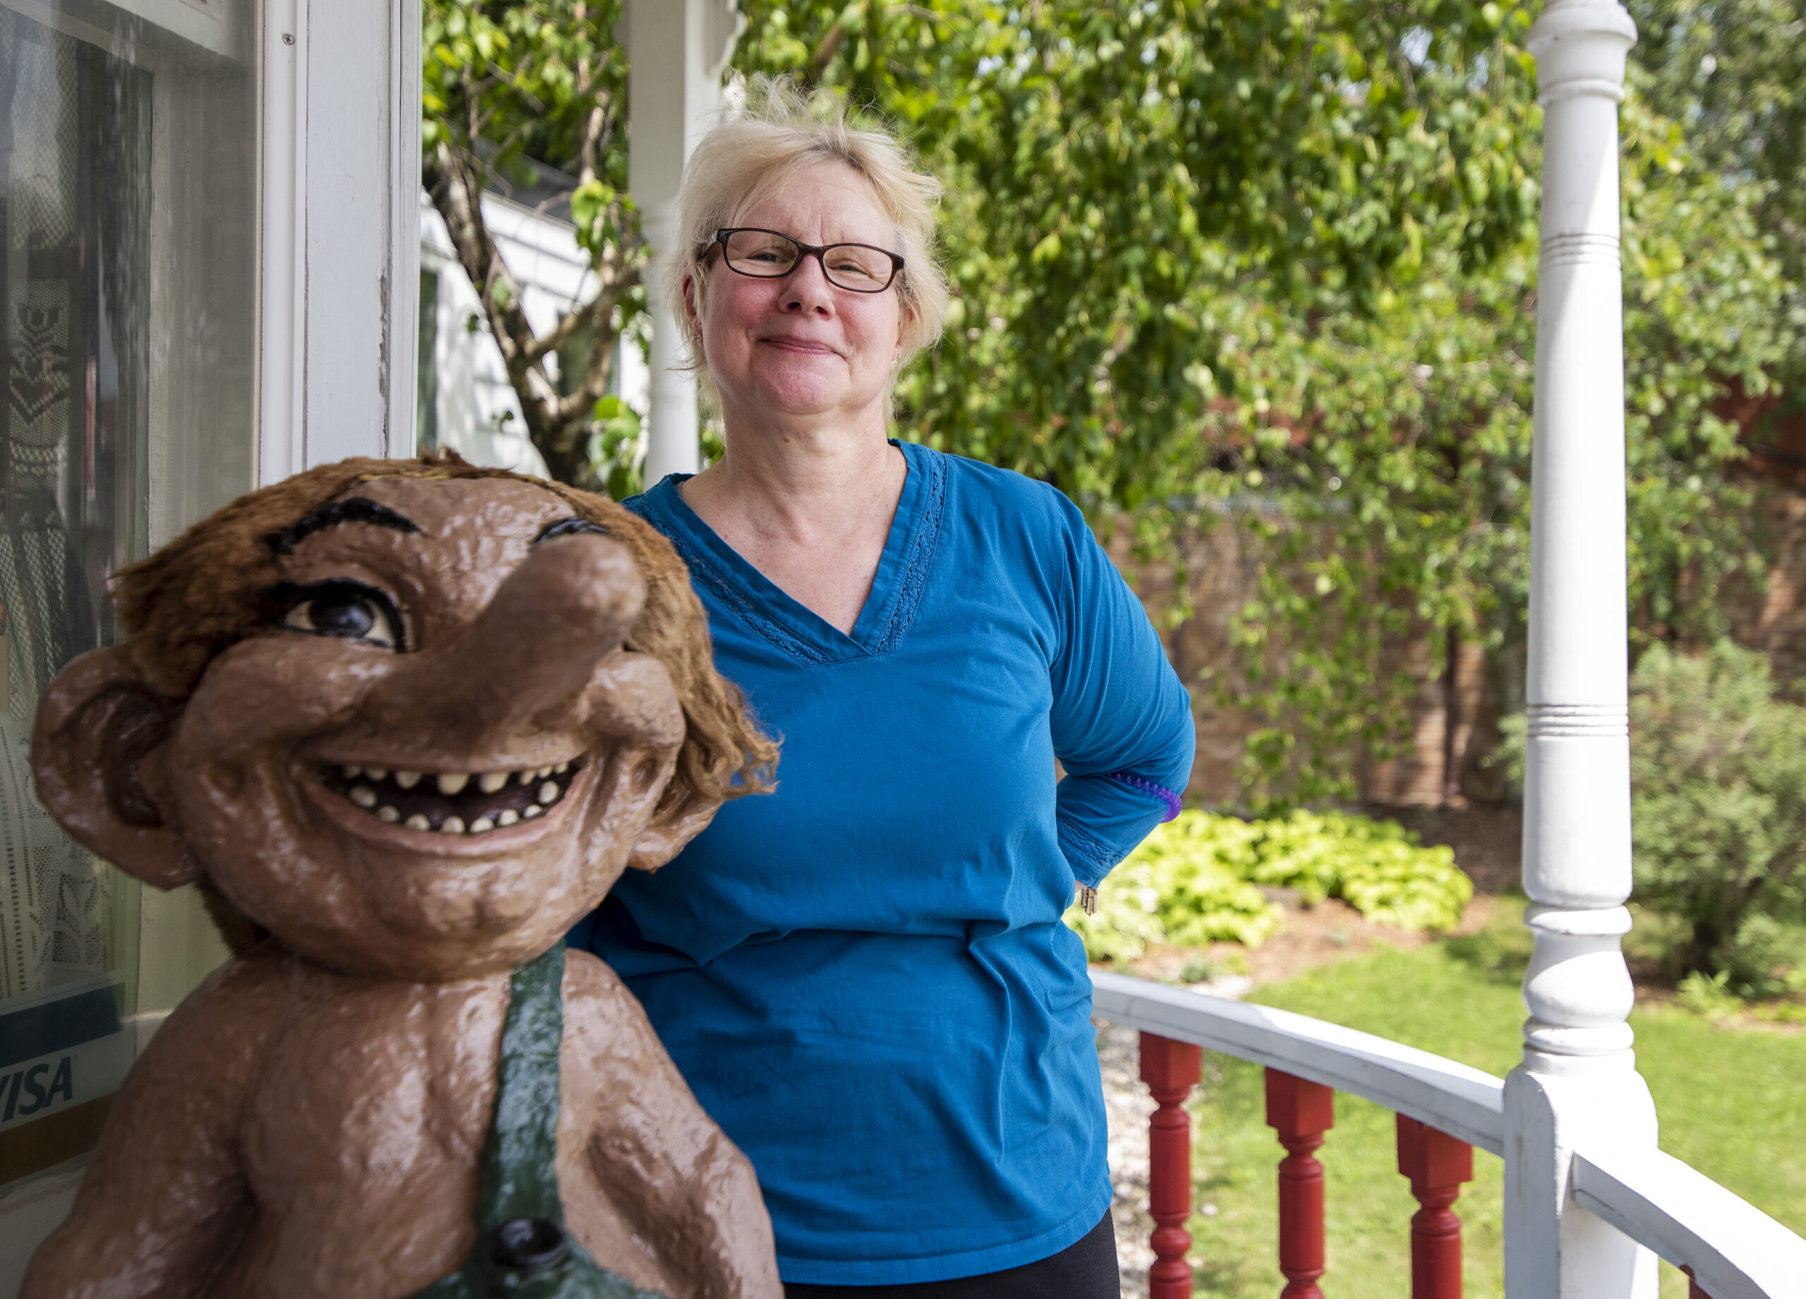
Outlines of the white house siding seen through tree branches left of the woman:
{"type": "MultiPolygon", "coordinates": [[[[536,331],[551,329],[560,314],[594,293],[589,255],[578,246],[569,222],[495,193],[482,195],[482,215],[502,260],[520,282],[522,309],[536,331]]],[[[423,446],[450,446],[475,464],[545,477],[545,461],[527,441],[502,352],[482,323],[477,291],[457,262],[444,220],[424,193],[421,271],[423,367],[428,345],[432,349],[432,376],[421,385],[423,446]]],[[[549,358],[549,365],[556,360],[549,358]]],[[[638,341],[616,345],[612,387],[643,419],[650,405],[650,376],[638,341]]]]}

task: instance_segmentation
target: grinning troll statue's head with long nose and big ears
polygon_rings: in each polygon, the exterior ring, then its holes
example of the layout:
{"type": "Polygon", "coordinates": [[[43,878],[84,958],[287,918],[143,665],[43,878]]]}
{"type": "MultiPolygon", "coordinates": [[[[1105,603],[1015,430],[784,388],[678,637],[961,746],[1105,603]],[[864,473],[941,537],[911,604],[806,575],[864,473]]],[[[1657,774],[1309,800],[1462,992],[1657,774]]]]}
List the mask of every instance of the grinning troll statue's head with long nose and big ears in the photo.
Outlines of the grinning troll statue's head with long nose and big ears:
{"type": "Polygon", "coordinates": [[[618,504],[455,457],[345,461],[117,582],[38,712],[38,791],[235,945],[437,981],[547,950],[777,750],[688,576],[618,504]],[[253,929],[255,927],[255,929],[253,929]]]}

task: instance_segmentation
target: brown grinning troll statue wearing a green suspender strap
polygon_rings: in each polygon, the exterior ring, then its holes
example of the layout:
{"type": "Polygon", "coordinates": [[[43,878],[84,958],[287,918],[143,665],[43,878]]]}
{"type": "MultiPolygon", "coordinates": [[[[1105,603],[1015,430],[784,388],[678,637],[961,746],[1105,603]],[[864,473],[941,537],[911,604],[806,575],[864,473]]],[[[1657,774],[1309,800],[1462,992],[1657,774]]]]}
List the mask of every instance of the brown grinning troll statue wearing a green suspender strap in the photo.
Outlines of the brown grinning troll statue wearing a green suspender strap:
{"type": "Polygon", "coordinates": [[[125,571],[40,795],[233,959],[119,1091],[25,1299],[777,1299],[746,1158],[565,929],[775,746],[672,547],[453,457],[345,461],[125,571]]]}

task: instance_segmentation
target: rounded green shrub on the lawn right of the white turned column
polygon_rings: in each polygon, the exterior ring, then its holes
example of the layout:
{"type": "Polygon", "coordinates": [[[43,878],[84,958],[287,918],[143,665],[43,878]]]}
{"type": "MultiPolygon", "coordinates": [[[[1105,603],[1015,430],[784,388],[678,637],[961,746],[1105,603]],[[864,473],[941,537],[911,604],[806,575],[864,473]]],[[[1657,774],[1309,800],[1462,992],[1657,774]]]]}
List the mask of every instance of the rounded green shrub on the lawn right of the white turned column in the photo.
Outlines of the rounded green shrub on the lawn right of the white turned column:
{"type": "Polygon", "coordinates": [[[1631,678],[1636,892],[1680,916],[1678,974],[1773,990],[1777,921],[1806,911],[1806,708],[1728,641],[1649,649],[1631,678]]]}

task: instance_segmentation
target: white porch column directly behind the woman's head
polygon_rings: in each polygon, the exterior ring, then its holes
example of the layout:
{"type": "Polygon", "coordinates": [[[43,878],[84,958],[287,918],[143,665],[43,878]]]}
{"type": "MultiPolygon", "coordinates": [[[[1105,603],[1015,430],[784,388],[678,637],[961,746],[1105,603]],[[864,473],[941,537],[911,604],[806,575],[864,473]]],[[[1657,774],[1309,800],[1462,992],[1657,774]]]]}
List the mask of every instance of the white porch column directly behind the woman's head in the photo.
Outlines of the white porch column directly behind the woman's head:
{"type": "MultiPolygon", "coordinates": [[[[652,257],[670,248],[683,164],[721,105],[721,72],[744,18],[735,0],[627,0],[628,181],[652,257]]],[[[703,468],[697,448],[695,379],[683,363],[683,332],[648,267],[652,307],[652,412],[645,482],[703,468]]]]}

